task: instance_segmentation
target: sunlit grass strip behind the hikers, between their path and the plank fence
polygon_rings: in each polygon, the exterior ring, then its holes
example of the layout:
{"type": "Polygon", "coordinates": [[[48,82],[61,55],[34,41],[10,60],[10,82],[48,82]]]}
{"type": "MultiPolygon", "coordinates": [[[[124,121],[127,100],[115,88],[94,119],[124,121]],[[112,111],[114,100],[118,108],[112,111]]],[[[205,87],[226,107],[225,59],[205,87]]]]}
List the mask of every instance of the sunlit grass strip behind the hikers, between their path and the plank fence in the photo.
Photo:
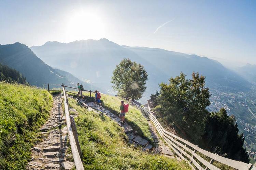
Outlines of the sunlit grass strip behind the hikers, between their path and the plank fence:
{"type": "MultiPolygon", "coordinates": [[[[83,92],[84,96],[90,96],[90,92],[83,92]]],[[[92,96],[95,94],[92,93],[92,96]]],[[[75,95],[74,95],[75,96],[75,95]]],[[[95,98],[86,98],[88,101],[94,101],[95,98]]],[[[101,102],[103,106],[109,109],[113,114],[119,116],[120,113],[120,99],[118,97],[103,95],[101,94],[101,102]]],[[[137,131],[138,134],[144,138],[146,138],[153,145],[153,138],[150,133],[150,127],[147,123],[147,120],[142,115],[141,111],[136,107],[129,105],[129,112],[126,113],[125,121],[133,128],[133,130],[137,131]]]]}

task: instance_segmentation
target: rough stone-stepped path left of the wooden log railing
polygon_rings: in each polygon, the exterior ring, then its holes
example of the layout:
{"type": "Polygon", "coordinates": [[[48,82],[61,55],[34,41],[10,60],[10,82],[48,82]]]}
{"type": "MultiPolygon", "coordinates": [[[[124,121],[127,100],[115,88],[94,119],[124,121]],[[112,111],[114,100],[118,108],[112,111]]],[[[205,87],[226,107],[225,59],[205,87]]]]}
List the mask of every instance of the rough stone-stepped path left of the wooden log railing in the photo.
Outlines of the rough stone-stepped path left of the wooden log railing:
{"type": "Polygon", "coordinates": [[[72,158],[66,154],[68,149],[68,131],[66,118],[62,111],[62,95],[53,97],[54,106],[47,122],[40,129],[43,141],[35,145],[32,151],[31,161],[27,165],[29,170],[43,169],[72,169],[74,163],[67,159],[72,158]]]}

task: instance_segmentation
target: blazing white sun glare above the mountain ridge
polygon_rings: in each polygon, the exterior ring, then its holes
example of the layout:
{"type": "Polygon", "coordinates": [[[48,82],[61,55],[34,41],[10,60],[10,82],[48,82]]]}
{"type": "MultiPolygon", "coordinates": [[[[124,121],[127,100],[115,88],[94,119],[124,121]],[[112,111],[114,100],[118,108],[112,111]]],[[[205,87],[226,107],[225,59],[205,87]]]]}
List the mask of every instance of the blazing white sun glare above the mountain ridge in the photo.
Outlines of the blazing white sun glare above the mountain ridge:
{"type": "Polygon", "coordinates": [[[74,12],[68,17],[66,41],[100,39],[105,37],[105,25],[101,16],[93,12],[74,12]]]}

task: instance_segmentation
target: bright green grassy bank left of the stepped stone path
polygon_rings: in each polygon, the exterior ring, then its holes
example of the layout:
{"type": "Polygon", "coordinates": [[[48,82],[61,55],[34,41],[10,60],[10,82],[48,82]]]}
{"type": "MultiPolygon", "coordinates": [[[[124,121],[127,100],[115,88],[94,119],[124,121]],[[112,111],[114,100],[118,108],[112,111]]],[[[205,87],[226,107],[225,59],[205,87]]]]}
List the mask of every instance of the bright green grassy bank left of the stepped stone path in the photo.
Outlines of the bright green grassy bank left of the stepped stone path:
{"type": "Polygon", "coordinates": [[[46,90],[0,82],[0,169],[25,169],[52,103],[46,90]]]}

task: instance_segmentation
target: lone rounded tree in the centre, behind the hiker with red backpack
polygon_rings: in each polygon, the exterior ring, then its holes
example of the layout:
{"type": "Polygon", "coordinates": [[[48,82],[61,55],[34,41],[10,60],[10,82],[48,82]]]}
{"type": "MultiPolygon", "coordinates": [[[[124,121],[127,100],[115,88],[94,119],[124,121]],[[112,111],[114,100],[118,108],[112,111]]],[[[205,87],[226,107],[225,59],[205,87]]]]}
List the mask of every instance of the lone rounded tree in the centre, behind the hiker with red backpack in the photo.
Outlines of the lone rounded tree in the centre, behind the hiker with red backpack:
{"type": "Polygon", "coordinates": [[[145,92],[147,76],[144,66],[124,58],[113,71],[112,87],[121,97],[134,101],[140,99],[145,92]]]}

